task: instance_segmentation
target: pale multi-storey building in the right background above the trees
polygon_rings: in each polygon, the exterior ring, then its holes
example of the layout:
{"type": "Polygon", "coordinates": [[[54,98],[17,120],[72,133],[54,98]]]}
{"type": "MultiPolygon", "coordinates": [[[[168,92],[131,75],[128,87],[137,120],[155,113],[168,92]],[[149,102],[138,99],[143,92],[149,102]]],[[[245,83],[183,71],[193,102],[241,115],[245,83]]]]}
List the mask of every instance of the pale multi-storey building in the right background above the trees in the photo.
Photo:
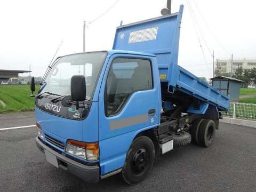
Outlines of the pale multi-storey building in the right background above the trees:
{"type": "Polygon", "coordinates": [[[220,58],[214,63],[214,69],[219,69],[219,73],[235,73],[238,67],[243,69],[252,69],[256,67],[256,58],[233,58],[233,65],[231,65],[231,58],[220,58]]]}

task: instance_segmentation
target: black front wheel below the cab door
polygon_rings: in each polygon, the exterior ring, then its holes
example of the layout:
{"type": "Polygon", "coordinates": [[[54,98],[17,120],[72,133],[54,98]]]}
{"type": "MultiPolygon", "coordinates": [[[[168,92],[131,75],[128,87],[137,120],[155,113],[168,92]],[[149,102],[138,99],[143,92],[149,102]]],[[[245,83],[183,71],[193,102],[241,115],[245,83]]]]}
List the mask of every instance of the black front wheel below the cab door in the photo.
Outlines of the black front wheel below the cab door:
{"type": "Polygon", "coordinates": [[[134,139],[122,170],[124,181],[135,185],[144,180],[152,170],[154,159],[155,147],[152,140],[146,136],[134,139]]]}

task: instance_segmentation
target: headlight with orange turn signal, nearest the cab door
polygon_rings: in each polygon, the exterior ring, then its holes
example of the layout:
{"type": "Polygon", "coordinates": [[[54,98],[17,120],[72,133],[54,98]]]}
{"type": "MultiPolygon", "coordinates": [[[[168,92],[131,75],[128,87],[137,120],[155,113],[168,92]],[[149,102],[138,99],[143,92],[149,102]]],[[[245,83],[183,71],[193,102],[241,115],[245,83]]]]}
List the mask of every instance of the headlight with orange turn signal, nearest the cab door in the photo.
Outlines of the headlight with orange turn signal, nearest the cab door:
{"type": "Polygon", "coordinates": [[[99,159],[99,143],[86,143],[69,139],[66,152],[88,161],[96,161],[99,159]]]}

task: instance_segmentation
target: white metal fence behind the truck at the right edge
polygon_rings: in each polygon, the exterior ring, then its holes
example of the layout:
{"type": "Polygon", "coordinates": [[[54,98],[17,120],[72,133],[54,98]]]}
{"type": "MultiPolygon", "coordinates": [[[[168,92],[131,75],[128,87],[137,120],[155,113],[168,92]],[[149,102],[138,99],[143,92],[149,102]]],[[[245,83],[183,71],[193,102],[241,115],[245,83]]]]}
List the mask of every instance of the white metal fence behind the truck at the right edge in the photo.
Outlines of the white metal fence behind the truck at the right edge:
{"type": "Polygon", "coordinates": [[[256,104],[231,102],[227,113],[222,113],[225,117],[256,120],[256,104]]]}

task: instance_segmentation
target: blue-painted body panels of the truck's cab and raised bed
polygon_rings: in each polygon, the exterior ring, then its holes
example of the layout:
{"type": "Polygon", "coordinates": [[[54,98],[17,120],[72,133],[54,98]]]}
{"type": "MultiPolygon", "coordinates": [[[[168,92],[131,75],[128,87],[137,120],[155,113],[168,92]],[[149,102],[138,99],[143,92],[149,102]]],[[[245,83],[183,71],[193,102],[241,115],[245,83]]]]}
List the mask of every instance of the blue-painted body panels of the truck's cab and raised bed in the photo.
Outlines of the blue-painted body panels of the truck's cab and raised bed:
{"type": "MultiPolygon", "coordinates": [[[[78,121],[58,117],[36,108],[36,121],[42,126],[44,134],[49,134],[50,137],[64,143],[67,139],[85,142],[99,141],[101,174],[106,174],[124,165],[127,150],[139,132],[159,125],[162,108],[161,82],[167,82],[170,87],[175,87],[176,90],[201,100],[200,109],[195,110],[193,106],[190,106],[189,113],[204,114],[209,105],[219,110],[227,110],[230,99],[226,95],[178,66],[182,12],[183,5],[178,13],[118,27],[113,45],[114,50],[108,51],[105,63],[103,63],[87,117],[78,121]],[[157,27],[155,39],[129,43],[131,32],[155,27],[157,27]],[[132,93],[117,115],[107,117],[104,103],[105,86],[111,62],[117,57],[150,60],[154,87],[150,90],[132,93]],[[159,76],[163,78],[160,79],[159,76]],[[148,116],[146,122],[119,127],[115,130],[110,129],[111,121],[145,115],[150,109],[155,109],[156,113],[154,116],[148,116]]],[[[151,37],[149,35],[145,38],[151,37]]],[[[167,108],[170,107],[173,106],[167,106],[167,108]]]]}

